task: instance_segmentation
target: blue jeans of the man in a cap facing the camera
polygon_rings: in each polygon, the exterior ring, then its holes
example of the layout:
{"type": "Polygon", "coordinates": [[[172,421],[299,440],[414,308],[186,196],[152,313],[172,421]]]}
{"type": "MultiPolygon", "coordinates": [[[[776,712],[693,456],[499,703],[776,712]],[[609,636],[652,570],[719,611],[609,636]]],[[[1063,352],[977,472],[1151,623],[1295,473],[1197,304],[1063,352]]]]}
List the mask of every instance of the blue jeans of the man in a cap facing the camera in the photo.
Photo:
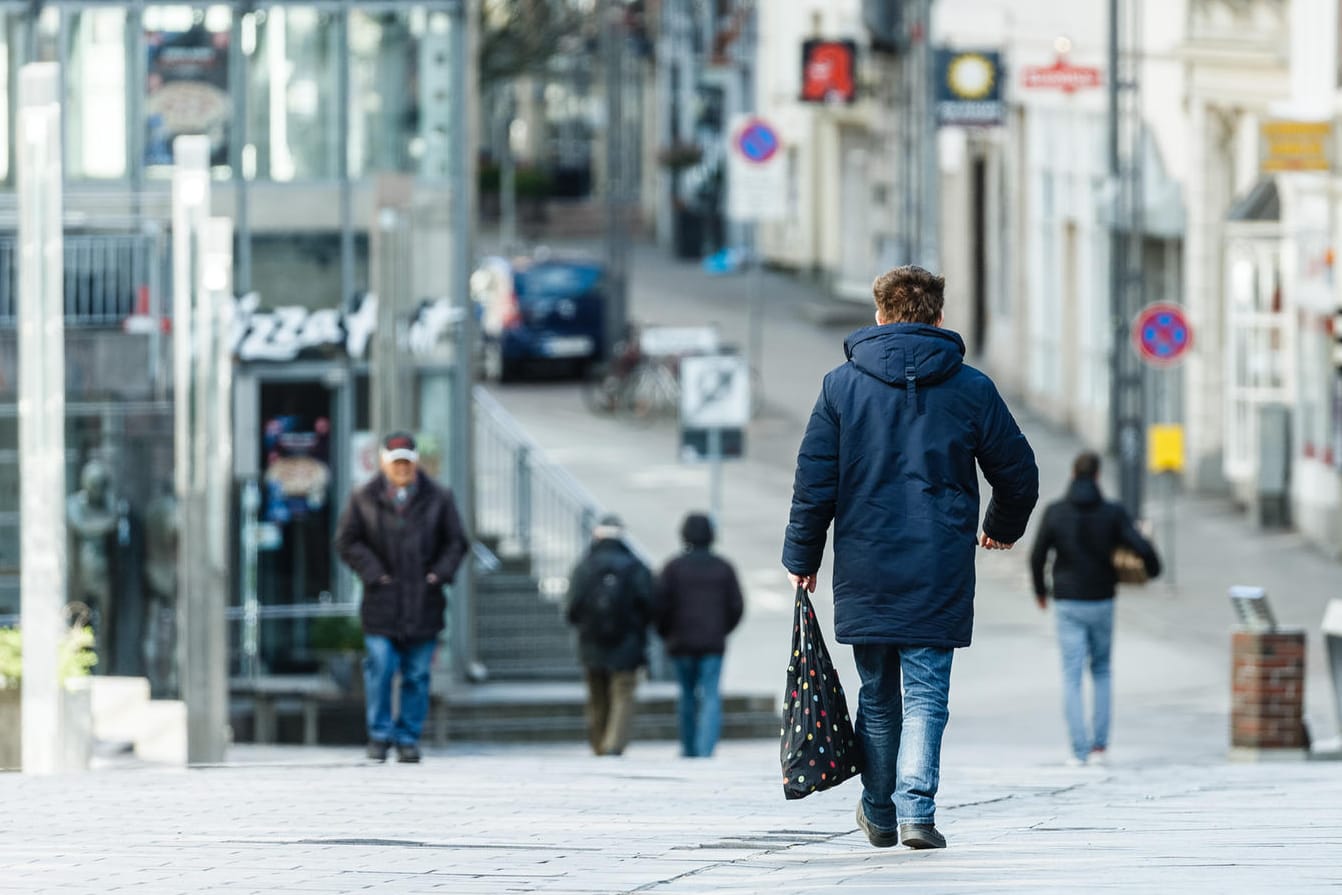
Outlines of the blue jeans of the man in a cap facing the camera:
{"type": "Polygon", "coordinates": [[[428,715],[428,671],[437,640],[392,640],[364,635],[364,704],[368,738],[413,745],[428,715]],[[401,706],[392,722],[392,679],[401,674],[401,706]]]}

